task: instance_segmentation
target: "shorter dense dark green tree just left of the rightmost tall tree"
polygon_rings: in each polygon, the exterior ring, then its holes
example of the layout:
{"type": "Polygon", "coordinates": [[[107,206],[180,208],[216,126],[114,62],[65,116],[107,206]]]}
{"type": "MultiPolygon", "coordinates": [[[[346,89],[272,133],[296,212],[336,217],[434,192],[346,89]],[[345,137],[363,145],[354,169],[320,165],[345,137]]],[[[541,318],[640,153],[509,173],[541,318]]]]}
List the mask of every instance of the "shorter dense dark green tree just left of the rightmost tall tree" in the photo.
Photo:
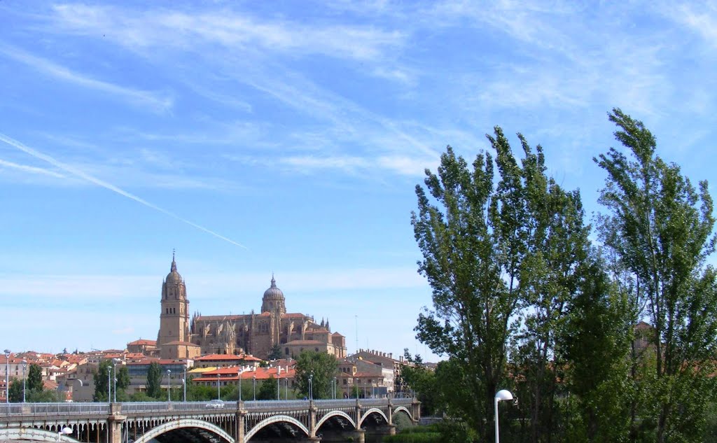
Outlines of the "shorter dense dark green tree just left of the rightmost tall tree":
{"type": "Polygon", "coordinates": [[[630,426],[624,401],[631,325],[627,295],[611,282],[597,256],[584,267],[562,335],[569,442],[619,442],[630,426]]]}

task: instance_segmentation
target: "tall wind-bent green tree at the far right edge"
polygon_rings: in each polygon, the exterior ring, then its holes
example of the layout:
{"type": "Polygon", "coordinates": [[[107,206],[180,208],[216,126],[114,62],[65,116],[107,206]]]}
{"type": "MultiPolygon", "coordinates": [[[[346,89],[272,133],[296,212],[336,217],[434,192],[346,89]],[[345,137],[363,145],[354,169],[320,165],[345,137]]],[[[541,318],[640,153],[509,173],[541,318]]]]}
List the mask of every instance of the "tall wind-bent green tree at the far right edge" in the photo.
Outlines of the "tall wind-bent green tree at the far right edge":
{"type": "Polygon", "coordinates": [[[619,109],[609,120],[628,155],[610,148],[595,158],[607,172],[599,199],[609,211],[603,241],[635,281],[655,350],[654,399],[638,411],[633,431],[652,417],[658,443],[699,439],[713,399],[705,394],[713,392],[708,375],[717,335],[716,276],[705,262],[715,247],[708,184],[695,189],[679,166],[657,156],[642,122],[619,109]]]}

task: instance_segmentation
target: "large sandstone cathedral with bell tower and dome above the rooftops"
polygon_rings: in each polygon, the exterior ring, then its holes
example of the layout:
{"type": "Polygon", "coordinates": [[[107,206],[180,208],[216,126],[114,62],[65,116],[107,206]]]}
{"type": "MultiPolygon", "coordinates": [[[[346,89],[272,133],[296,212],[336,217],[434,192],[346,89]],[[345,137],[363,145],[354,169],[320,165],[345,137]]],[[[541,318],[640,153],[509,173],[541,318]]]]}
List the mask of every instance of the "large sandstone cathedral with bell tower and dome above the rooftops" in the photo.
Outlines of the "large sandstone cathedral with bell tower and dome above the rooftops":
{"type": "Polygon", "coordinates": [[[346,357],[346,338],[331,333],[328,320],[316,323],[302,313],[287,313],[284,292],[271,285],[262,297],[260,313],[246,315],[201,315],[189,320],[189,299],[184,279],[172,254],[169,273],[162,283],[161,314],[157,346],[161,358],[196,358],[207,354],[252,354],[267,358],[275,346],[282,357],[302,351],[346,357]]]}

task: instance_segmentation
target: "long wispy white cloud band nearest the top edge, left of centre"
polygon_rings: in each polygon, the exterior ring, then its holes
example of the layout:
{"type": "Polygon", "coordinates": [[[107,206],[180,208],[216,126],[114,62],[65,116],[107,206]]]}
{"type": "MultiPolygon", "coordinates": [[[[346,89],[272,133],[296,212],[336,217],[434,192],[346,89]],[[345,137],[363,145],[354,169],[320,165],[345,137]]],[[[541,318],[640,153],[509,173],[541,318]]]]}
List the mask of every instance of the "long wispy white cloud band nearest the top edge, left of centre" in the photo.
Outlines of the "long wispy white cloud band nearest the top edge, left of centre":
{"type": "Polygon", "coordinates": [[[300,54],[324,54],[359,60],[384,57],[386,49],[402,45],[399,31],[376,27],[307,25],[288,20],[260,21],[230,9],[189,14],[154,10],[141,14],[113,6],[61,4],[54,6],[54,24],[72,32],[107,35],[133,48],[155,45],[184,48],[218,44],[300,54]]]}

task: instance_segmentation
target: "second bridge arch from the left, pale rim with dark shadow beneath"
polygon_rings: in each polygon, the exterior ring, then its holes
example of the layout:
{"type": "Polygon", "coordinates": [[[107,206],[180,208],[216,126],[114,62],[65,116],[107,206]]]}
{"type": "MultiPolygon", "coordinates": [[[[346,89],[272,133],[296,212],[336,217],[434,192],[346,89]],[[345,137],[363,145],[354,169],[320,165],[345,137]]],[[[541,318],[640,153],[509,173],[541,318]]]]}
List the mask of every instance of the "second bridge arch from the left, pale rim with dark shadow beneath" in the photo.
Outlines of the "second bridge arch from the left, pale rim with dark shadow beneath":
{"type": "Polygon", "coordinates": [[[156,439],[161,443],[196,441],[206,443],[235,443],[232,436],[224,432],[222,428],[196,419],[167,421],[145,432],[135,443],[149,443],[152,439],[156,439]]]}

